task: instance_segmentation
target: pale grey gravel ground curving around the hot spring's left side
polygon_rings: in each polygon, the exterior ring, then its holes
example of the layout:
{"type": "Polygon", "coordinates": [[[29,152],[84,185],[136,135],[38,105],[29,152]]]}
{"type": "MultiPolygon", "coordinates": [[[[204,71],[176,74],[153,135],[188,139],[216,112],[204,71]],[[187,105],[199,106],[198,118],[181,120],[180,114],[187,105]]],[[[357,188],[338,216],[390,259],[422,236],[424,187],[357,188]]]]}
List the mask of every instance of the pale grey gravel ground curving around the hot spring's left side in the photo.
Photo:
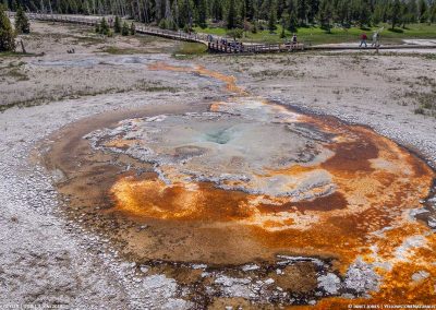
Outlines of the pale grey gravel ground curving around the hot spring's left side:
{"type": "Polygon", "coordinates": [[[83,117],[185,98],[201,99],[186,93],[128,93],[0,114],[0,308],[17,303],[68,305],[69,309],[187,307],[174,297],[173,279],[137,275],[110,249],[93,251],[105,249],[105,240],[86,236],[56,215],[50,178],[27,158],[37,141],[83,117]]]}

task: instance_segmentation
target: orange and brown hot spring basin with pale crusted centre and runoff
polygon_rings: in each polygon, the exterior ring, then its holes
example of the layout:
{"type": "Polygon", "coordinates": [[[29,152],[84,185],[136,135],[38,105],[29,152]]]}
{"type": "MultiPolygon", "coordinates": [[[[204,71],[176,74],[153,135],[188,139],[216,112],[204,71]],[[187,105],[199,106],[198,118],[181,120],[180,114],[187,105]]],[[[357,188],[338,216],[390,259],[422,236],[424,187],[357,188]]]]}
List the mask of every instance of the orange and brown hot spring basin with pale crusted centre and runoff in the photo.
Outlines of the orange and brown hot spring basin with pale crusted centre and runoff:
{"type": "Polygon", "coordinates": [[[368,128],[250,95],[149,106],[59,131],[64,212],[193,308],[435,301],[433,170],[368,128]],[[421,216],[420,216],[421,215],[421,216]],[[416,219],[417,218],[417,219],[416,219]]]}

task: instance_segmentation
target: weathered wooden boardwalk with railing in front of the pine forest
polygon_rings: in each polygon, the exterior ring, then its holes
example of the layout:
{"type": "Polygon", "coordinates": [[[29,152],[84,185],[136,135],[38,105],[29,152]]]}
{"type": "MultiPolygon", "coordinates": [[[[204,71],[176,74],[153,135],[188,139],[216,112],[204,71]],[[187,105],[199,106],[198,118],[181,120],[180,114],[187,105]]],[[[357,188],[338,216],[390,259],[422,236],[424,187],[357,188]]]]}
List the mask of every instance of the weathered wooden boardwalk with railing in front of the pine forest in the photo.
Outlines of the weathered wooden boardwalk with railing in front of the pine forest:
{"type": "MultiPolygon", "coordinates": [[[[9,16],[14,16],[14,12],[8,12],[9,16]]],[[[31,20],[74,23],[87,26],[95,26],[101,17],[94,16],[72,16],[60,14],[27,13],[31,20]]],[[[136,33],[152,36],[159,36],[169,39],[201,43],[207,46],[210,52],[219,53],[264,53],[304,50],[303,44],[241,44],[226,40],[221,37],[214,37],[207,34],[185,33],[181,31],[168,31],[136,24],[136,33]]]]}

